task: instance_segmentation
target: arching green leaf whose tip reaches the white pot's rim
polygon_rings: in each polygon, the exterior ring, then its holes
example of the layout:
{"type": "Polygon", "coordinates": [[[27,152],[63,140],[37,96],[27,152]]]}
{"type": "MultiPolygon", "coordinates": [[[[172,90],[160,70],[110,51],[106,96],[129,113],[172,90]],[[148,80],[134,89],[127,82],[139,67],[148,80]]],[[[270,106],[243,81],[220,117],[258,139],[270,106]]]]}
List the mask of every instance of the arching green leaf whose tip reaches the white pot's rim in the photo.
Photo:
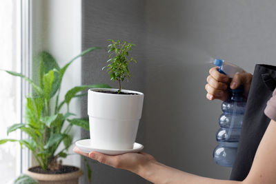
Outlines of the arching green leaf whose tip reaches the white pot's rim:
{"type": "Polygon", "coordinates": [[[75,97],[75,95],[78,93],[78,92],[81,92],[83,90],[86,90],[88,88],[111,88],[110,85],[107,85],[107,84],[103,84],[103,83],[100,83],[100,84],[93,84],[93,85],[80,85],[80,86],[77,86],[75,88],[72,88],[71,90],[69,90],[66,95],[65,95],[65,101],[67,104],[70,103],[71,99],[73,97],[75,97]]]}

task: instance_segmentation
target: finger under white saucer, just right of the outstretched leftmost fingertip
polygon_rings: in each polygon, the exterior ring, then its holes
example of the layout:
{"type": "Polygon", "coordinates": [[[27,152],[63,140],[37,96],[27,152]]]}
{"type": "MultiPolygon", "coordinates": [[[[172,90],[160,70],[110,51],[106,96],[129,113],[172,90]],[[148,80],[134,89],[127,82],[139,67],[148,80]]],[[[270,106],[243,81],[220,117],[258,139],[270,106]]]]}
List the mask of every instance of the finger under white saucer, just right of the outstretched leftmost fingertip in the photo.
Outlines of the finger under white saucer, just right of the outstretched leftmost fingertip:
{"type": "Polygon", "coordinates": [[[89,157],[91,159],[95,159],[99,161],[99,163],[103,163],[106,165],[110,165],[112,167],[118,168],[119,167],[119,155],[117,156],[111,156],[107,154],[101,154],[99,152],[90,152],[89,157]]]}

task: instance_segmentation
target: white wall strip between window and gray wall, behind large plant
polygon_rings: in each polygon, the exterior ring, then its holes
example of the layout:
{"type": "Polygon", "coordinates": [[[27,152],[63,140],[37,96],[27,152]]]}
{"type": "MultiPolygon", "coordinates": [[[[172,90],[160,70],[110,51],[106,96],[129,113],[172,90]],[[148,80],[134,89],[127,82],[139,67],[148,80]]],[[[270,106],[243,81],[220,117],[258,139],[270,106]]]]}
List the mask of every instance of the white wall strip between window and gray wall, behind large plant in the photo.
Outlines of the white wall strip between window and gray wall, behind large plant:
{"type": "MultiPolygon", "coordinates": [[[[55,57],[59,66],[63,67],[81,53],[81,0],[35,0],[32,2],[34,61],[39,51],[46,50],[55,57]]],[[[34,63],[33,68],[36,70],[38,63],[34,63]]],[[[81,59],[74,61],[66,71],[61,84],[60,100],[63,100],[66,92],[76,85],[81,85],[81,59]]],[[[79,100],[72,99],[70,112],[79,116],[79,100]]],[[[74,127],[72,134],[74,134],[75,141],[80,139],[80,128],[74,127]]],[[[69,150],[72,152],[72,147],[69,150]]],[[[77,154],[68,156],[63,163],[80,167],[80,156],[77,154]]]]}

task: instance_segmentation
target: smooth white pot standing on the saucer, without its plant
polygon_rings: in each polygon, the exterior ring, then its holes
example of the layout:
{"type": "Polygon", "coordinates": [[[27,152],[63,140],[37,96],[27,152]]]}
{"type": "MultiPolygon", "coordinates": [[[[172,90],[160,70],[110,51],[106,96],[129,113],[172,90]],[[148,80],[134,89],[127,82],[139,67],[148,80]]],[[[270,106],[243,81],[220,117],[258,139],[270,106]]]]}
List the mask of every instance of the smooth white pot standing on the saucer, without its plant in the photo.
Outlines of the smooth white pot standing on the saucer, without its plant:
{"type": "Polygon", "coordinates": [[[135,143],[141,119],[144,94],[110,94],[118,89],[88,90],[88,116],[92,147],[106,150],[130,150],[135,143]]]}

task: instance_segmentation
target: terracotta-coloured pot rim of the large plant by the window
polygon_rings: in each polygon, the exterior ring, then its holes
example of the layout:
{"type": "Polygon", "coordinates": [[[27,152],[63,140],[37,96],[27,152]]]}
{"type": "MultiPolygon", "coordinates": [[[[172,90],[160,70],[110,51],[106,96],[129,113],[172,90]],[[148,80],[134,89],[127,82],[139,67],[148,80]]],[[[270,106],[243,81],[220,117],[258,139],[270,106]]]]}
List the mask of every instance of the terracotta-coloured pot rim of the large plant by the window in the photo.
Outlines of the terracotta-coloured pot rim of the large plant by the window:
{"type": "Polygon", "coordinates": [[[81,169],[66,174],[41,174],[30,172],[31,168],[29,168],[25,174],[39,181],[39,184],[78,184],[79,177],[83,174],[81,169]]]}

